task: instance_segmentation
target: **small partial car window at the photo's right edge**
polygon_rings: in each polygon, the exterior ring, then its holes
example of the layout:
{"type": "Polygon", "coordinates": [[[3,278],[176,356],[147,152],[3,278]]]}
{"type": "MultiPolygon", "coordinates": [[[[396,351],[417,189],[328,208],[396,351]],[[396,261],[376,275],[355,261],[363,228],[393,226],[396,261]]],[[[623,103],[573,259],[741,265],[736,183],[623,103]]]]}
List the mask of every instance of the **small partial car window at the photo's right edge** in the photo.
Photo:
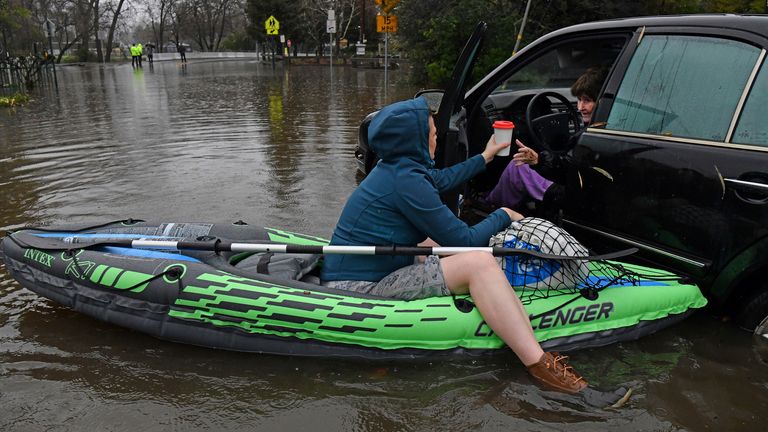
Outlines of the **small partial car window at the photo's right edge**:
{"type": "Polygon", "coordinates": [[[732,141],[768,147],[768,63],[757,75],[732,141]]]}

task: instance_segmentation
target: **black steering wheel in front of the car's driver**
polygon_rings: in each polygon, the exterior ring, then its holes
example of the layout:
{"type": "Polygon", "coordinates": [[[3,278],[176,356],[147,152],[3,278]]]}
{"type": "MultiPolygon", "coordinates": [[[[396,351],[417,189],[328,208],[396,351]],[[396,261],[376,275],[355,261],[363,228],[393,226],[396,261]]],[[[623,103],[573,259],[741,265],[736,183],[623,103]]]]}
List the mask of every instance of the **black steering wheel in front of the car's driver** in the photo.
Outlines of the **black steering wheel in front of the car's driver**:
{"type": "MultiPolygon", "coordinates": [[[[550,111],[549,107],[547,107],[547,111],[550,111]]],[[[563,150],[571,137],[570,122],[573,122],[577,131],[583,127],[581,115],[573,107],[571,101],[557,92],[548,91],[537,94],[528,102],[528,107],[525,109],[525,125],[531,132],[531,140],[533,141],[529,147],[536,151],[543,149],[563,150]],[[549,113],[533,118],[534,113],[537,112],[536,106],[550,97],[562,102],[565,106],[565,112],[549,113]]]]}

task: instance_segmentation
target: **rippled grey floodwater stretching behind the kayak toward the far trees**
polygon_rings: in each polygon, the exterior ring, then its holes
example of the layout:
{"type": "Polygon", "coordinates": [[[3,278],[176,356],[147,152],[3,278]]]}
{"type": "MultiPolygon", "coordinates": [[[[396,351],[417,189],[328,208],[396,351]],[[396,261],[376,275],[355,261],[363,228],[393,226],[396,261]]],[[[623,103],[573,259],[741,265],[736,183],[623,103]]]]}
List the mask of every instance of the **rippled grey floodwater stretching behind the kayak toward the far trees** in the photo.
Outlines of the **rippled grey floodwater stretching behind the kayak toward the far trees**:
{"type": "Polygon", "coordinates": [[[13,204],[0,226],[264,218],[327,234],[355,186],[357,125],[384,103],[380,74],[341,69],[331,82],[322,67],[185,69],[64,68],[59,97],[5,115],[0,197],[13,204]]]}

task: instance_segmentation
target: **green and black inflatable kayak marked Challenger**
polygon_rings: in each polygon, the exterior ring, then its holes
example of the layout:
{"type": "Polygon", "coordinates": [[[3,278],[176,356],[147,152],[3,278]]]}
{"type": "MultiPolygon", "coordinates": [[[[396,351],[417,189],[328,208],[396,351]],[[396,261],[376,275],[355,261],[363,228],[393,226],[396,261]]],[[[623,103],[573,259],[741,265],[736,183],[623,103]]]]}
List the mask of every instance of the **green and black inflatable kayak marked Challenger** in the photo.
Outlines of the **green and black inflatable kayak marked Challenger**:
{"type": "MultiPolygon", "coordinates": [[[[369,359],[506,349],[469,296],[404,301],[334,290],[319,284],[320,255],[233,252],[219,246],[233,239],[327,244],[323,238],[243,222],[125,220],[19,230],[3,238],[0,257],[12,277],[43,297],[169,341],[369,359]],[[137,246],[141,241],[187,241],[187,246],[147,249],[137,246]]],[[[706,304],[695,285],[670,273],[616,266],[633,277],[604,274],[605,266],[590,263],[589,277],[604,282],[599,291],[527,297],[524,305],[545,349],[634,340],[706,304]]]]}

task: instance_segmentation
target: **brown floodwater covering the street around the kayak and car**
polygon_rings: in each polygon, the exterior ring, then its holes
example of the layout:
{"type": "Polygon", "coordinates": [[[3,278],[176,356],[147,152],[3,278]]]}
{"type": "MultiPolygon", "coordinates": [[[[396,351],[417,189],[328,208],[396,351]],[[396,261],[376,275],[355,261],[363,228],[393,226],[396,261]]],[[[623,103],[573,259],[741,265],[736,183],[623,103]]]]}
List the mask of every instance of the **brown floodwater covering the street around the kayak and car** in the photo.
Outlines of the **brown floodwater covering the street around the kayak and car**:
{"type": "MultiPolygon", "coordinates": [[[[59,69],[0,110],[0,229],[127,217],[328,236],[356,187],[364,115],[404,72],[249,61],[59,69]]],[[[706,312],[573,353],[584,396],[511,353],[371,363],[216,351],[72,312],[0,267],[0,430],[765,430],[768,341],[706,312]],[[620,388],[633,396],[605,409],[620,388]]]]}

